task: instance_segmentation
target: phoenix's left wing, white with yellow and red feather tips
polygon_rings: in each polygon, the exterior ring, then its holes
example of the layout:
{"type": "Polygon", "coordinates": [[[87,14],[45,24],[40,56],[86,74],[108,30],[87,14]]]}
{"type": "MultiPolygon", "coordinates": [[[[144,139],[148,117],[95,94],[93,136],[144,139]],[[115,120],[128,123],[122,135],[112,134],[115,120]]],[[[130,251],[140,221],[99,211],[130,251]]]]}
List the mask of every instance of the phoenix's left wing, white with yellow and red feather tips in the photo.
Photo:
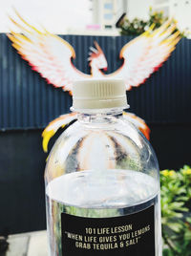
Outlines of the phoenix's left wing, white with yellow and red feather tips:
{"type": "Polygon", "coordinates": [[[32,70],[39,72],[54,87],[61,87],[65,91],[72,91],[74,80],[90,76],[74,67],[74,48],[67,41],[46,30],[38,31],[18,12],[16,14],[20,22],[12,18],[11,21],[21,29],[22,34],[11,32],[8,37],[17,52],[30,63],[32,70]]]}

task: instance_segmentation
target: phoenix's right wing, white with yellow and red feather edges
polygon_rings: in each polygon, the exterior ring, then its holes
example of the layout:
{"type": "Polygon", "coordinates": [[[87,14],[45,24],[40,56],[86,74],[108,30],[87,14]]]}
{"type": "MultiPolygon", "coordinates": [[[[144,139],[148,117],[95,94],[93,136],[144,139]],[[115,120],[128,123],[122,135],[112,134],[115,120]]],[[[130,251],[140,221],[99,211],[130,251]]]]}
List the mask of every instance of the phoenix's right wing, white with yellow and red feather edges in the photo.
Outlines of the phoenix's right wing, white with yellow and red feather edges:
{"type": "Polygon", "coordinates": [[[175,32],[177,26],[173,20],[166,21],[155,31],[153,28],[123,46],[119,54],[124,59],[123,65],[117,72],[107,75],[123,78],[127,90],[138,87],[157,71],[180,41],[180,32],[175,32]]]}

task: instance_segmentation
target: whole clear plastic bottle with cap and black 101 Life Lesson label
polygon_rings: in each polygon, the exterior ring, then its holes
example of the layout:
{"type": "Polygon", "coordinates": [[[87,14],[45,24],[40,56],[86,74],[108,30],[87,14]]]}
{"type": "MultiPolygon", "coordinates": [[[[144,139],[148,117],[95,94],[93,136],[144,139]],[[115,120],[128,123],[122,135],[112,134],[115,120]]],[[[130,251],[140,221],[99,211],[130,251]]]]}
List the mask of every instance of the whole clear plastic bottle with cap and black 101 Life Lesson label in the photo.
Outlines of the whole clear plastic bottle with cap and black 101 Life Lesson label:
{"type": "Polygon", "coordinates": [[[73,108],[45,171],[50,255],[160,256],[158,160],[122,117],[123,81],[76,82],[73,108]]]}

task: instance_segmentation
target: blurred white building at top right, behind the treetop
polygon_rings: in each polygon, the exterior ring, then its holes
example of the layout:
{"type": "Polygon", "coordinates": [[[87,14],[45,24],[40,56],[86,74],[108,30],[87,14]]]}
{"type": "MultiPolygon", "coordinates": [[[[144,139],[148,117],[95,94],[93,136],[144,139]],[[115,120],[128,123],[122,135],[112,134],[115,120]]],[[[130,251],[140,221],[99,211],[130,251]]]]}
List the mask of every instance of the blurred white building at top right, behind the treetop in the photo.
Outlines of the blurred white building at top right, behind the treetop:
{"type": "Polygon", "coordinates": [[[180,30],[191,31],[191,0],[89,0],[92,3],[93,23],[100,30],[116,31],[117,19],[125,12],[129,19],[147,19],[149,9],[163,11],[165,16],[174,17],[180,30]]]}

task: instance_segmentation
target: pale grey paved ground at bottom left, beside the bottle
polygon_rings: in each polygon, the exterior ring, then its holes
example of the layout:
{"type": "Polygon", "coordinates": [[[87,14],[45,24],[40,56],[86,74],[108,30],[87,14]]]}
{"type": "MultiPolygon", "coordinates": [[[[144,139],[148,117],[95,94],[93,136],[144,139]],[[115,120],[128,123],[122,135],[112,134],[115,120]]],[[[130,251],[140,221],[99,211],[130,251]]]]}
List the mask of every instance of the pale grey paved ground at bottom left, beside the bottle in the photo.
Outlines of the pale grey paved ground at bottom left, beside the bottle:
{"type": "Polygon", "coordinates": [[[48,256],[47,232],[38,231],[11,235],[5,256],[48,256]]]}

